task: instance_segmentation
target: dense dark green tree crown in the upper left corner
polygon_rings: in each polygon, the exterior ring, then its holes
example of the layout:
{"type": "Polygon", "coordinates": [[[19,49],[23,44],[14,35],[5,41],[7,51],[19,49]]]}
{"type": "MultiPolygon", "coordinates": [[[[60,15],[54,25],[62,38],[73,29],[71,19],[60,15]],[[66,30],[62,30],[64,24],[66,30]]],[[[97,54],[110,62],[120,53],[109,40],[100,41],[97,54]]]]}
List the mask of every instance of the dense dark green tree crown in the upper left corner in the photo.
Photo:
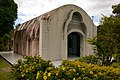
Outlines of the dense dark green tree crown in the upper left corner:
{"type": "Polygon", "coordinates": [[[13,29],[17,19],[17,4],[14,0],[0,0],[0,37],[13,29]]]}

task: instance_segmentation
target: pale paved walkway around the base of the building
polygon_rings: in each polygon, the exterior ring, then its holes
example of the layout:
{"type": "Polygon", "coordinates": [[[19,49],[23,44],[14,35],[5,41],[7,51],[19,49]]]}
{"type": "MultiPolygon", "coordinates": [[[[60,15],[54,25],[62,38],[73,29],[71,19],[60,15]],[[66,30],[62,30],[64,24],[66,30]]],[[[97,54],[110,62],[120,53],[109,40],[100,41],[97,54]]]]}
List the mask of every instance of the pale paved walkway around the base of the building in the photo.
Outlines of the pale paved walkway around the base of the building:
{"type": "MultiPolygon", "coordinates": [[[[13,51],[8,51],[8,52],[0,52],[0,55],[6,59],[10,64],[16,64],[18,59],[23,59],[23,56],[13,53],[13,51]]],[[[79,57],[77,57],[79,58],[79,57]]],[[[69,58],[69,60],[75,60],[77,59],[76,57],[73,58],[69,58]]],[[[58,61],[52,61],[53,65],[55,67],[58,67],[59,65],[61,65],[62,60],[58,60],[58,61]]]]}

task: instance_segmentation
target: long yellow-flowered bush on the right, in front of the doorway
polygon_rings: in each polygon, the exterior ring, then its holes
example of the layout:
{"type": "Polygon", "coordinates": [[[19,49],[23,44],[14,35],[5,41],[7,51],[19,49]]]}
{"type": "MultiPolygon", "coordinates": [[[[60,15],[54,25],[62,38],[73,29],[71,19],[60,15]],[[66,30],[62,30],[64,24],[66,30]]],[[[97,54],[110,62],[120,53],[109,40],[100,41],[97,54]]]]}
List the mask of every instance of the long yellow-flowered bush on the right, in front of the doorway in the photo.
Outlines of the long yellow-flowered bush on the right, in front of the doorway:
{"type": "Polygon", "coordinates": [[[43,78],[44,80],[120,80],[120,68],[65,60],[59,68],[46,69],[43,78]]]}

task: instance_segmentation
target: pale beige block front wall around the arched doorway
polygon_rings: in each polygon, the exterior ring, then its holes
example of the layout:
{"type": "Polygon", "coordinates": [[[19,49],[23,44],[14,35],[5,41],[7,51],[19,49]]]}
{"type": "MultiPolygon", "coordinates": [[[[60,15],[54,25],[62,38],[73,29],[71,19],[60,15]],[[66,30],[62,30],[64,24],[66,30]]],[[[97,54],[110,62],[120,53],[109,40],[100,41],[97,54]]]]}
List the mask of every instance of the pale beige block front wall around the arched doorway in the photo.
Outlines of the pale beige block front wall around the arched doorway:
{"type": "MultiPolygon", "coordinates": [[[[42,57],[50,60],[68,59],[67,36],[68,25],[73,13],[78,12],[83,19],[81,25],[86,27],[83,38],[83,53],[86,56],[93,53],[92,46],[85,42],[86,39],[96,35],[96,28],[92,20],[81,8],[74,5],[62,6],[54,11],[49,20],[43,20],[42,25],[42,57]],[[82,24],[83,23],[83,24],[82,24]]],[[[72,29],[72,32],[80,32],[72,29]]]]}

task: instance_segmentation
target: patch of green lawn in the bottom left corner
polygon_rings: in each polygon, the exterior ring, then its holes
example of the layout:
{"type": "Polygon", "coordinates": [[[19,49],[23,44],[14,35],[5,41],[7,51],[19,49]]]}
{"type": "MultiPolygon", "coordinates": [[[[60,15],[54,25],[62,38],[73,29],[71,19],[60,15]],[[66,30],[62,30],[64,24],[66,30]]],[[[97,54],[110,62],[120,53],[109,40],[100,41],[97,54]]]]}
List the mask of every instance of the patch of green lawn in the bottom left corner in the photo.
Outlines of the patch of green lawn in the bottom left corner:
{"type": "Polygon", "coordinates": [[[11,65],[0,56],[0,80],[10,79],[11,65]]]}

